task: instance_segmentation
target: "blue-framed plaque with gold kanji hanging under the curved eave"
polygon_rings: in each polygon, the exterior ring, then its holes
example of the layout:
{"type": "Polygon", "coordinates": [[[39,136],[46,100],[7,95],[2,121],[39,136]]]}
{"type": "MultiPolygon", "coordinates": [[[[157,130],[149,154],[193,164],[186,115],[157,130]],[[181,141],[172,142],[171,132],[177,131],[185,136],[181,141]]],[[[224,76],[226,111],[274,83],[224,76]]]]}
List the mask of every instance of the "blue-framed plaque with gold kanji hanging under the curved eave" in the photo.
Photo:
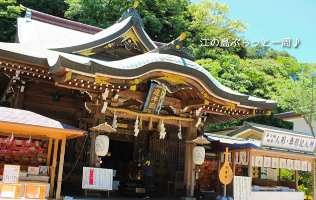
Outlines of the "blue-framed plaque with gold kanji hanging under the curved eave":
{"type": "Polygon", "coordinates": [[[167,88],[161,84],[151,83],[142,112],[159,114],[167,93],[167,88]]]}

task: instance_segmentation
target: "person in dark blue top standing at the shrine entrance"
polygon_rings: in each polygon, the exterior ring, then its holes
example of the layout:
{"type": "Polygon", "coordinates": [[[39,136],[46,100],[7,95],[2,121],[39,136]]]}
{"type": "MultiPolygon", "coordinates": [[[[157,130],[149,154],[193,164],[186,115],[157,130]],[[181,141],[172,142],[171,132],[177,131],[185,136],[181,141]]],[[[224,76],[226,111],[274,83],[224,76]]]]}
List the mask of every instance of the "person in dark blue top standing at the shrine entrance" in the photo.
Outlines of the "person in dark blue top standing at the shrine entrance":
{"type": "Polygon", "coordinates": [[[149,182],[152,177],[152,159],[151,152],[149,150],[145,151],[144,159],[141,162],[142,169],[144,170],[143,178],[145,185],[145,196],[143,198],[149,198],[149,182]]]}

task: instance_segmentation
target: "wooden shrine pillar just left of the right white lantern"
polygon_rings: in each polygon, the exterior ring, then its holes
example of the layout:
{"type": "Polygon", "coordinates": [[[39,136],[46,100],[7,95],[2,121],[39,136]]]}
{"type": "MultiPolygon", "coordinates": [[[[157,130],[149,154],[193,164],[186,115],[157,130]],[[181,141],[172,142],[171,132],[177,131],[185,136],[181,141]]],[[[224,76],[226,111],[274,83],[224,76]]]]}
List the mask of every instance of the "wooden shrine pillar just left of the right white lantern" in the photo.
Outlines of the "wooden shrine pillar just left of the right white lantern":
{"type": "MultiPolygon", "coordinates": [[[[186,139],[190,139],[197,134],[197,128],[195,127],[194,122],[190,123],[190,126],[187,129],[186,139]]],[[[195,144],[186,143],[186,157],[185,157],[185,176],[184,183],[187,186],[187,197],[193,197],[194,192],[194,169],[195,164],[193,163],[193,148],[195,144]]]]}

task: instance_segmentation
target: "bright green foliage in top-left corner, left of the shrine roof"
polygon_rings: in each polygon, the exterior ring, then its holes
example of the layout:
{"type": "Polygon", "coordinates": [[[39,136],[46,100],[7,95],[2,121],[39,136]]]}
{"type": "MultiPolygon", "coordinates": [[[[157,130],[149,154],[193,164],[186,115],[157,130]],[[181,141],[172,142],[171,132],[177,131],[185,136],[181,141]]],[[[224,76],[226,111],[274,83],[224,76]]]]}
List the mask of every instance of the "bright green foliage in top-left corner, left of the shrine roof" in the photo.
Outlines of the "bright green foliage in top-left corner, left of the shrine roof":
{"type": "Polygon", "coordinates": [[[20,7],[15,0],[0,0],[0,41],[13,42],[15,39],[17,18],[20,17],[20,7]]]}

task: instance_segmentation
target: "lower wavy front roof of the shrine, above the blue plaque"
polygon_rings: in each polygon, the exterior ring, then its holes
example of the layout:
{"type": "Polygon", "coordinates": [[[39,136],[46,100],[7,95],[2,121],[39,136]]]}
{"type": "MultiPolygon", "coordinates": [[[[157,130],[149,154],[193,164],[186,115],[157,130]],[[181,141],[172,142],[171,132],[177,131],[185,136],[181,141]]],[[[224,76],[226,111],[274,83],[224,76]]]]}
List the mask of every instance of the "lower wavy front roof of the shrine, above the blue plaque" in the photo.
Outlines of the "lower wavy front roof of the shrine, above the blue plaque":
{"type": "Polygon", "coordinates": [[[0,54],[9,58],[19,57],[20,60],[25,62],[47,66],[51,73],[57,72],[61,67],[66,67],[78,73],[84,72],[94,77],[96,75],[104,75],[131,78],[149,73],[150,71],[174,71],[188,78],[200,81],[217,96],[233,99],[244,105],[274,108],[277,104],[276,101],[233,91],[217,81],[201,65],[176,55],[148,52],[122,60],[110,61],[91,56],[38,48],[33,45],[4,42],[0,42],[0,54]]]}

